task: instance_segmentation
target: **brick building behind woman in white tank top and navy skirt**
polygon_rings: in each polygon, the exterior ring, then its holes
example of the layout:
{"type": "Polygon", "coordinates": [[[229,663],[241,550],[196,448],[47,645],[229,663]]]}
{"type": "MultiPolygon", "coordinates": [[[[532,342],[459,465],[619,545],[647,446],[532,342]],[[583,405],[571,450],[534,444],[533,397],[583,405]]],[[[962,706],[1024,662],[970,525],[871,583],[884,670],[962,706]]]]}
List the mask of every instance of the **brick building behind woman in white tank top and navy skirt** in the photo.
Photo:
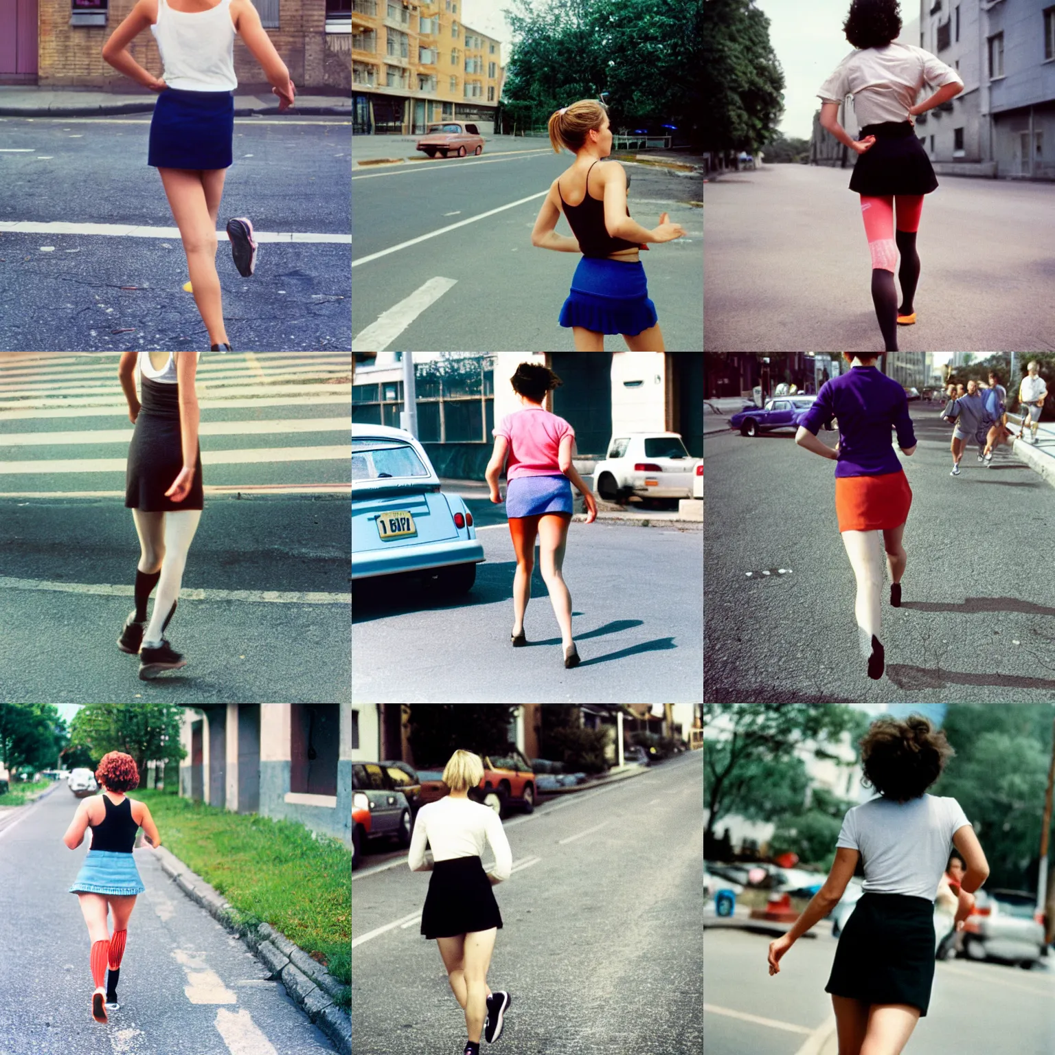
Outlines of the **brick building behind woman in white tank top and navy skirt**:
{"type": "MultiPolygon", "coordinates": [[[[0,84],[129,91],[132,82],[102,58],[102,45],[135,0],[0,0],[0,84]]],[[[351,0],[254,0],[299,93],[333,95],[351,88],[351,0]]],[[[161,60],[151,33],[129,51],[154,76],[161,60]]],[[[270,94],[239,37],[234,72],[241,91],[270,94]]],[[[132,89],[135,90],[135,89],[132,89]]]]}

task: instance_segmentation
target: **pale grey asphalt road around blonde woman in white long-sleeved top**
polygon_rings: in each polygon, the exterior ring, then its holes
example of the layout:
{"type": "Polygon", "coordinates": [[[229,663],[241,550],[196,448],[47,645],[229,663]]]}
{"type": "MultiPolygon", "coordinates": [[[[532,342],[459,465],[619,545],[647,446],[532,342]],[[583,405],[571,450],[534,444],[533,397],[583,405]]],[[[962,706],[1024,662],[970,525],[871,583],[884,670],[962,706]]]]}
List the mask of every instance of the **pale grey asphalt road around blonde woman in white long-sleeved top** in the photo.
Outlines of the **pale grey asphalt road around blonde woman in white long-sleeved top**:
{"type": "MultiPolygon", "coordinates": [[[[702,761],[692,752],[505,822],[514,870],[495,887],[503,927],[487,975],[513,997],[502,1050],[703,1051],[702,761]]],[[[401,865],[352,883],[352,1050],[459,1051],[464,1014],[420,933],[428,875],[401,865]]]]}

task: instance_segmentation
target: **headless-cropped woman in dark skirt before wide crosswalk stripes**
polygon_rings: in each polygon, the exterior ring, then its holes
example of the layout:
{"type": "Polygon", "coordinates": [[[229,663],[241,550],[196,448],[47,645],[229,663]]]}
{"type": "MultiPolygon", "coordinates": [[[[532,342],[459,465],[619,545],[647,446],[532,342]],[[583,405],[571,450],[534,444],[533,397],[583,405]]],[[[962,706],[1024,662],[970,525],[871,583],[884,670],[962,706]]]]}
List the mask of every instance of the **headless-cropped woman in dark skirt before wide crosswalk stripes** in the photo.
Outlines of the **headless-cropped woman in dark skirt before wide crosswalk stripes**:
{"type": "Polygon", "coordinates": [[[117,647],[139,656],[139,677],[143,680],[187,665],[164,635],[176,612],[187,552],[205,506],[198,446],[200,410],[194,382],[199,354],[126,351],[117,367],[129,417],[135,424],[124,505],[132,511],[140,550],[135,611],[124,620],[117,647]],[[137,362],[141,402],[135,387],[137,362]],[[148,625],[147,601],[154,587],[157,597],[148,625]]]}

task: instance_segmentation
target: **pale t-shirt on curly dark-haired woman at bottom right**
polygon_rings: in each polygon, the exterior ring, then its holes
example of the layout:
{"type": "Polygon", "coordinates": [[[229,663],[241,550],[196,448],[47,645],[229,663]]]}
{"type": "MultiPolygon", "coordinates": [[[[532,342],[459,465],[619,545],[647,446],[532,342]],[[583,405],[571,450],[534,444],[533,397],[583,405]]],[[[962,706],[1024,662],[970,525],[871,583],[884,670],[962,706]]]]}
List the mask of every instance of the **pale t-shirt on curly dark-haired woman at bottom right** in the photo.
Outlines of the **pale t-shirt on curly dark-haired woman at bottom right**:
{"type": "Polygon", "coordinates": [[[866,894],[934,901],[966,814],[955,799],[923,794],[897,803],[882,795],[846,811],[836,846],[861,852],[866,894]]]}

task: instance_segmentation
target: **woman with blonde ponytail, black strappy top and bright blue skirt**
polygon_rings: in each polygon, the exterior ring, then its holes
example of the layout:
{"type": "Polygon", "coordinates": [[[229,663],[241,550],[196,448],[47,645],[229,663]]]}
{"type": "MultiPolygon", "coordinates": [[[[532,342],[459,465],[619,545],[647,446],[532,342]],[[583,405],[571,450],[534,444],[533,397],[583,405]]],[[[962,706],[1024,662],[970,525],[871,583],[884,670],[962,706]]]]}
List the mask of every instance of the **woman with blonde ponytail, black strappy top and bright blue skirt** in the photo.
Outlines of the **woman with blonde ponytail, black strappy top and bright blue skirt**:
{"type": "Polygon", "coordinates": [[[630,218],[621,165],[597,165],[612,152],[608,111],[593,99],[558,110],[550,118],[554,152],[571,151],[575,160],[550,185],[531,244],[558,252],[582,253],[560,325],[572,327],[576,351],[603,351],[606,333],[621,333],[631,351],[664,351],[655,305],[649,300],[639,250],[647,242],[685,235],[667,213],[651,231],[630,218]],[[556,233],[561,212],[575,234],[556,233]]]}

